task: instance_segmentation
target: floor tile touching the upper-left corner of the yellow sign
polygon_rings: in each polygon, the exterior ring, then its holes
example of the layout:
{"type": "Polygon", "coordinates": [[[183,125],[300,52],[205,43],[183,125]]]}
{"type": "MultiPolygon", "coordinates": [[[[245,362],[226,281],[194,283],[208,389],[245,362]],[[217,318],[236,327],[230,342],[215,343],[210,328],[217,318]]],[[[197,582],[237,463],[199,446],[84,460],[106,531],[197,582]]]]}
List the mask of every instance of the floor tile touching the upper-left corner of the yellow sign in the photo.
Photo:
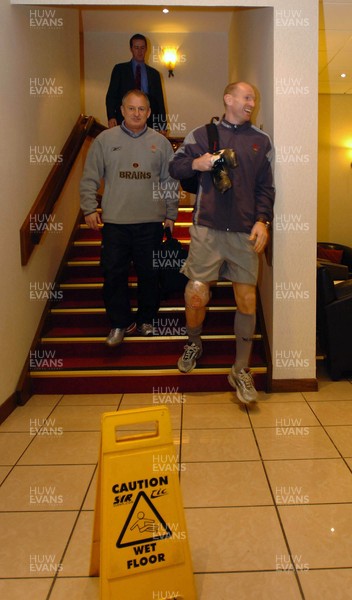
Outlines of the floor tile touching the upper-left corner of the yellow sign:
{"type": "Polygon", "coordinates": [[[50,415],[57,427],[66,431],[101,431],[104,413],[116,412],[113,406],[58,406],[50,415]]]}

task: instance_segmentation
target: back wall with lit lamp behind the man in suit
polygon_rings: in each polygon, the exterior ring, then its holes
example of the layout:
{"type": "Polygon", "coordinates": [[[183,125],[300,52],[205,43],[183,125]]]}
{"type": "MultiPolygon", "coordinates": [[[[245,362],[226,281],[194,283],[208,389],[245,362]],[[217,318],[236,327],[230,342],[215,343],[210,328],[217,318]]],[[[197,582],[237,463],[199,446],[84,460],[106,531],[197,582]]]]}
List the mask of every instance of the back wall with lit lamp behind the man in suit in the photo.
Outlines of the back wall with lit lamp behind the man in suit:
{"type": "MultiPolygon", "coordinates": [[[[221,116],[222,92],[228,83],[227,35],[144,30],[143,34],[148,39],[147,62],[158,69],[163,80],[170,135],[185,136],[211,117],[221,116]],[[177,47],[180,57],[174,77],[170,78],[159,59],[159,49],[166,45],[177,47]]],[[[130,37],[123,32],[84,34],[85,111],[104,124],[107,124],[105,96],[111,71],[116,63],[131,59],[130,37]]]]}

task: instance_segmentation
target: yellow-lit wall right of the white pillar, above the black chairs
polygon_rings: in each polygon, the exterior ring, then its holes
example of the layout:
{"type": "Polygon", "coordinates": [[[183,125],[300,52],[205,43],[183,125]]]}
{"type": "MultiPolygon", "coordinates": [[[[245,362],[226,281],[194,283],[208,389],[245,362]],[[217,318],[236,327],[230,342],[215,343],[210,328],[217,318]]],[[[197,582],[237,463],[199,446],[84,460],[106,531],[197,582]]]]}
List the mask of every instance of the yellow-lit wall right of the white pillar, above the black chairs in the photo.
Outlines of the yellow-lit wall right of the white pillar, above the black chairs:
{"type": "Polygon", "coordinates": [[[318,240],[352,246],[352,100],[319,96],[318,240]]]}

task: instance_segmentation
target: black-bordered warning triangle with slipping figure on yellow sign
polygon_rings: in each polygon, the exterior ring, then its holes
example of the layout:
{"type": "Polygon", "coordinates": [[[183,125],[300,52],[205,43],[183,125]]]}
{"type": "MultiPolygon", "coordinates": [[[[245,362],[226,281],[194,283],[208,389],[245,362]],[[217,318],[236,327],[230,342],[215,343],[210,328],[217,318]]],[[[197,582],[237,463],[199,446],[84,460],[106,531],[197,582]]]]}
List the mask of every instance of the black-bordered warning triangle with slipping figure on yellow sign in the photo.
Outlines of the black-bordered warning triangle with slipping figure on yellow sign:
{"type": "Polygon", "coordinates": [[[145,492],[139,492],[116,542],[117,548],[164,540],[172,532],[145,492]]]}

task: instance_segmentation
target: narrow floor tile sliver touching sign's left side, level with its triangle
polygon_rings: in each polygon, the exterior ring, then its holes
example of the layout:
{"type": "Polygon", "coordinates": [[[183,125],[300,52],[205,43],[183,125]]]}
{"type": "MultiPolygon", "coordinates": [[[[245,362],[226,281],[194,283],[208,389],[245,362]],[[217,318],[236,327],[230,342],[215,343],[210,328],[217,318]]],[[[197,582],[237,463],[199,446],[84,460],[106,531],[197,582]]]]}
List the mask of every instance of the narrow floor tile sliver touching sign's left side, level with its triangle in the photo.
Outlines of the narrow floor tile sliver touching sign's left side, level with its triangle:
{"type": "Polygon", "coordinates": [[[59,577],[87,577],[92,550],[94,511],[82,511],[62,561],[59,577]]]}

